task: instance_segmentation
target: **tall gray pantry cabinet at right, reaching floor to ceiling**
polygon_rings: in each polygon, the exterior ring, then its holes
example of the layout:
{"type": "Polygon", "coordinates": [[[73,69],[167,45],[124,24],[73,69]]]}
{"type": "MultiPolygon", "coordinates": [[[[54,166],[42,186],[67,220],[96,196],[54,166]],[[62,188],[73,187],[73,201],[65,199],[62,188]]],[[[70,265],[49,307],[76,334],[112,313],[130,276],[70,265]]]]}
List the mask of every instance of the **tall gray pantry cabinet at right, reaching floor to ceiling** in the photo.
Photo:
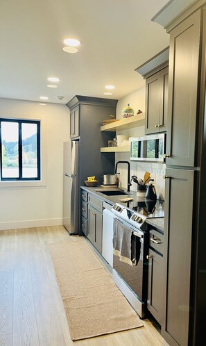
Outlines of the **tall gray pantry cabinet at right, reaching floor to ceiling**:
{"type": "MultiPolygon", "coordinates": [[[[155,22],[166,26],[170,6],[155,22]]],[[[206,1],[194,1],[166,26],[170,53],[162,336],[171,346],[205,345],[205,6],[206,1]]]]}

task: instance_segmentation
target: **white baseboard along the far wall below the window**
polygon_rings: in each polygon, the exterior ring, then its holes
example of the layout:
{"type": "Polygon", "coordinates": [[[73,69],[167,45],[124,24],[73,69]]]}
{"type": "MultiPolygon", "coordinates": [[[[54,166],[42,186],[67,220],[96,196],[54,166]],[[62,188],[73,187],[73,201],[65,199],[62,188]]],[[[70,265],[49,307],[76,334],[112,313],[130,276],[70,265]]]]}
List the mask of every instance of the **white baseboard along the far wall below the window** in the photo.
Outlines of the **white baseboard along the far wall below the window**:
{"type": "Polygon", "coordinates": [[[4,231],[6,229],[26,229],[30,227],[60,226],[60,225],[62,225],[62,218],[61,219],[0,222],[0,231],[4,231]]]}

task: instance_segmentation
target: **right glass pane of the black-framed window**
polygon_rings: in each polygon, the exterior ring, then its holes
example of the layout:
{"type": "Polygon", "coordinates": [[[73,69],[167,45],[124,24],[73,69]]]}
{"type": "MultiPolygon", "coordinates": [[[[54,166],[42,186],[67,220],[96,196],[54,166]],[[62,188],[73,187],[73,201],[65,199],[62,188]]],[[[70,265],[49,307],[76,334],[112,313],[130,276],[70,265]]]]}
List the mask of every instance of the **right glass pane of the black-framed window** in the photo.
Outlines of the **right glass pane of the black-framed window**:
{"type": "Polygon", "coordinates": [[[22,178],[37,178],[37,124],[22,124],[22,178]]]}

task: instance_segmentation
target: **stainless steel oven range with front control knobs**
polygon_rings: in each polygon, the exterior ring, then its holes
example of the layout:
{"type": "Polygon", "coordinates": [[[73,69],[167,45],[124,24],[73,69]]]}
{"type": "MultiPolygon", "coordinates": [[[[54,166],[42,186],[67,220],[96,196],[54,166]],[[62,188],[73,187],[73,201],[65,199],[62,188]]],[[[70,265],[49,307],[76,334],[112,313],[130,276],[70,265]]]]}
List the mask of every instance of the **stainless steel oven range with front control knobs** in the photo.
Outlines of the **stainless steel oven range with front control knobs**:
{"type": "MultiPolygon", "coordinates": [[[[123,224],[124,231],[131,234],[135,242],[137,264],[132,266],[121,261],[119,256],[113,256],[113,279],[123,295],[141,318],[146,312],[147,277],[148,277],[148,232],[144,222],[146,217],[139,216],[137,212],[123,208],[120,204],[114,204],[112,208],[117,220],[116,226],[123,224]]],[[[115,222],[115,221],[114,221],[115,222]]]]}

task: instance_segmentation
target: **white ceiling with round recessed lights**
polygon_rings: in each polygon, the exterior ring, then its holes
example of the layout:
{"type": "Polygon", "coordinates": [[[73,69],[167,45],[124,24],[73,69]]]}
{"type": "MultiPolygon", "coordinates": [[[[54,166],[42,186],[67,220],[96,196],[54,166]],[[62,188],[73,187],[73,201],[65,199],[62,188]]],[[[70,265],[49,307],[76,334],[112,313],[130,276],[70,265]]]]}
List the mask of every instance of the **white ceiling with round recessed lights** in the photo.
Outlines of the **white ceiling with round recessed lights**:
{"type": "Polygon", "coordinates": [[[151,18],[168,0],[1,0],[0,97],[66,104],[74,95],[121,97],[144,85],[135,72],[169,45],[151,18]],[[62,51],[78,38],[78,53],[62,51]],[[58,76],[58,88],[47,88],[58,76]],[[59,101],[57,96],[63,96],[59,101]]]}

